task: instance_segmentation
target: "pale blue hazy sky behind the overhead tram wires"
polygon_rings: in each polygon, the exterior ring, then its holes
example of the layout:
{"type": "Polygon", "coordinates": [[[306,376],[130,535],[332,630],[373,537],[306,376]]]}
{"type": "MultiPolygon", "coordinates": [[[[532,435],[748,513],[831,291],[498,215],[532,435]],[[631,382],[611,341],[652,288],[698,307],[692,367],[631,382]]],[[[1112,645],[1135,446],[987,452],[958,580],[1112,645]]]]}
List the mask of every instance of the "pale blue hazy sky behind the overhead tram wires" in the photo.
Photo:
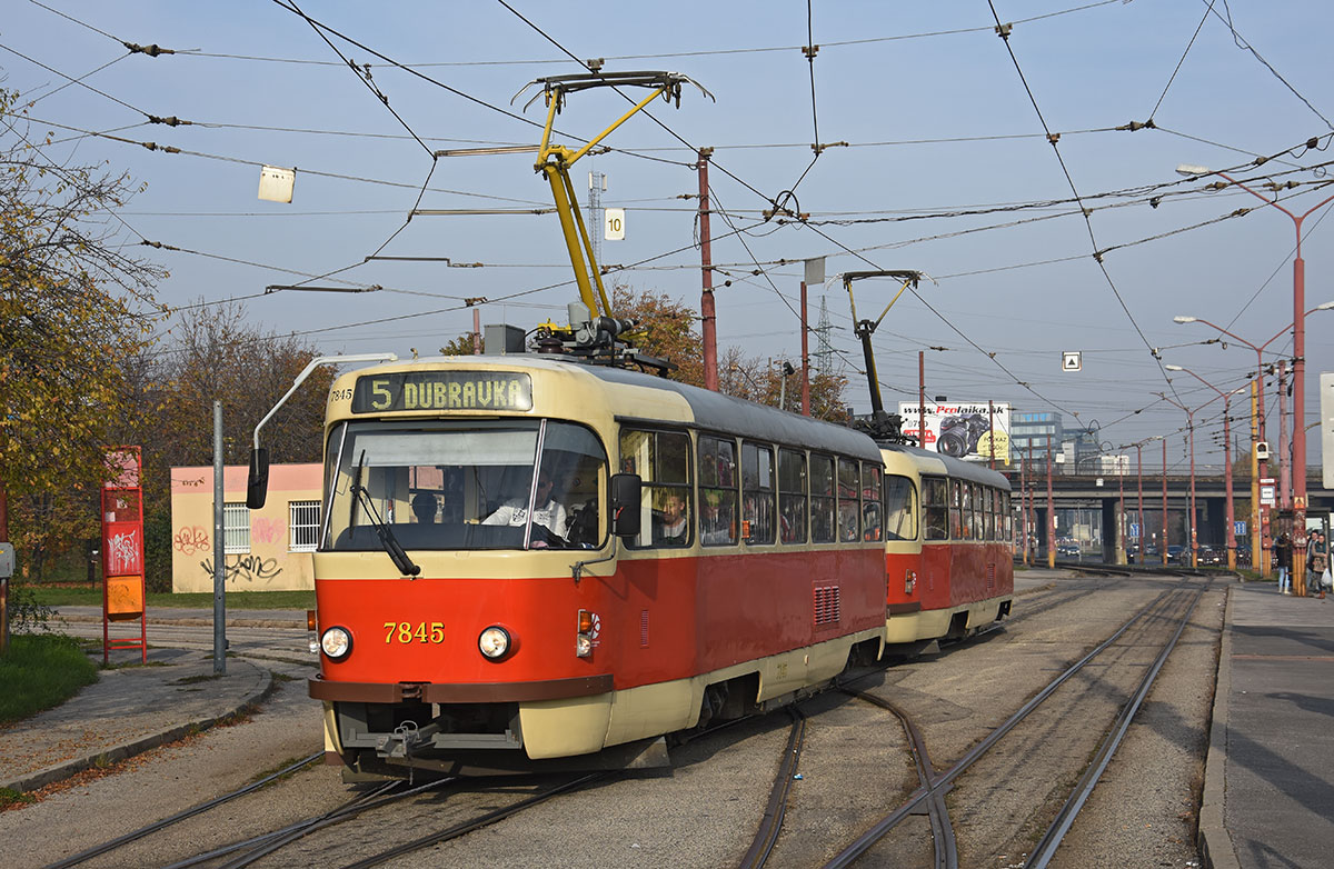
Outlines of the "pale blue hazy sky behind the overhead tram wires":
{"type": "MultiPolygon", "coordinates": [[[[305,333],[331,353],[407,355],[411,347],[434,352],[471,329],[463,297],[510,297],[483,307],[483,321],[524,328],[563,317],[574,300],[570,285],[538,291],[571,277],[551,215],[422,216],[404,228],[431,171],[427,149],[293,12],[259,0],[43,4],[68,17],[29,0],[7,3],[3,84],[40,97],[29,112],[37,119],[32,133],[73,136],[48,149],[52,159],[107,161],[148,185],[120,212],[135,233],[127,231],[127,241],[143,237],[196,252],[152,252],[172,272],[160,287],[168,304],[255,296],[268,284],[356,265],[338,277],[387,289],[260,296],[245,301],[249,317],[264,328],[305,333]],[[121,40],[179,53],[125,56],[121,40]],[[84,83],[100,93],[81,85],[51,93],[67,84],[64,76],[87,76],[84,83]],[[145,115],[196,124],[149,125],[145,115]],[[115,131],[129,143],[79,137],[64,127],[115,131]],[[132,144],[144,141],[193,153],[132,144]],[[292,204],[256,199],[265,163],[297,168],[292,204]],[[358,265],[391,236],[386,255],[486,265],[358,265]],[[402,319],[382,321],[387,317],[402,319]]],[[[1162,348],[1163,361],[1190,367],[1219,388],[1245,383],[1254,352],[1231,341],[1229,349],[1199,345],[1217,333],[1177,325],[1173,316],[1206,317],[1254,343],[1282,331],[1293,315],[1294,233],[1277,209],[1235,188],[1205,193],[1205,181],[1181,179],[1174,168],[1241,167],[1239,177],[1259,183],[1266,173],[1282,173],[1282,180],[1301,183],[1283,193],[1299,211],[1334,193],[1319,187],[1331,179],[1313,171],[1334,159],[1325,120],[1334,119],[1334,99],[1321,36],[1334,24],[1334,7],[1314,0],[1134,0],[1082,9],[1077,0],[995,0],[996,16],[1015,23],[1009,48],[1033,99],[1047,128],[1061,133],[1055,149],[984,1],[815,0],[808,7],[687,0],[562,11],[530,0],[511,0],[514,11],[487,0],[300,5],[366,45],[325,31],[344,56],[371,64],[375,87],[430,149],[535,144],[539,127],[506,113],[540,124],[540,101],[523,113],[524,99],[511,105],[511,97],[538,76],[579,72],[556,44],[580,59],[607,59],[608,71],[671,69],[698,80],[716,101],[687,89],[679,109],[658,103],[652,116],[671,133],[636,117],[608,140],[616,152],[575,167],[580,195],[595,168],[608,176],[604,204],[627,209],[627,239],[603,244],[604,263],[651,260],[654,268],[624,271],[615,280],[698,307],[695,200],[682,199],[695,193],[698,180],[686,165],[694,153],[679,139],[715,148],[714,207],[730,212],[736,227],[751,228],[720,237],[728,223],[722,215],[712,221],[714,261],[726,269],[715,277],[724,347],[760,356],[798,353],[791,308],[802,271],[774,265],[780,259],[827,256],[831,279],[844,271],[907,268],[938,280],[922,291],[934,312],[904,296],[876,335],[890,407],[915,396],[918,351],[944,347],[927,352],[928,396],[1055,407],[1067,425],[1078,411],[1081,420],[1101,423],[1111,444],[1175,432],[1183,415],[1154,393],[1175,388],[1186,404],[1213,393],[1187,375],[1174,376],[1169,387],[1150,348],[1162,348]],[[819,141],[848,145],[826,149],[803,179],[815,141],[812,67],[800,51],[808,21],[820,45],[814,61],[819,141]],[[368,49],[414,65],[435,83],[368,49]],[[1150,117],[1157,129],[1111,129],[1150,117]],[[1319,149],[1297,148],[1263,169],[1245,167],[1255,155],[1275,155],[1310,137],[1321,137],[1319,149]],[[1071,185],[1058,153],[1093,209],[1090,223],[1065,201],[1071,185]],[[768,200],[794,185],[800,211],[815,225],[755,225],[768,200]],[[1118,191],[1127,193],[1103,196],[1118,191]],[[1149,200],[1157,196],[1162,200],[1153,208],[1149,200]],[[1062,203],[1034,207],[1049,200],[1062,203]],[[1238,219],[1141,243],[1251,207],[1238,219]],[[1002,211],[959,213],[983,209],[1002,211]],[[999,224],[1014,225],[983,231],[999,224]],[[1130,247],[1103,256],[1105,276],[1093,259],[1095,244],[1130,247]],[[722,287],[728,277],[732,284],[722,287]],[[1062,351],[1083,352],[1081,373],[1061,371],[1062,351]]],[[[578,93],[558,127],[568,136],[591,136],[623,107],[611,91],[578,93]]],[[[430,188],[424,208],[550,205],[531,155],[440,159],[430,188]]],[[[1307,307],[1334,299],[1334,229],[1323,216],[1321,209],[1306,225],[1307,307]]],[[[892,289],[858,284],[859,313],[878,315],[892,289]]],[[[822,295],[835,347],[848,355],[850,367],[859,365],[842,285],[812,288],[812,321],[822,295]]],[[[1331,333],[1334,313],[1309,319],[1307,423],[1319,419],[1318,373],[1334,368],[1331,333]]],[[[1283,339],[1273,347],[1290,353],[1283,339]]],[[[864,384],[850,375],[851,404],[864,411],[864,384]]],[[[1221,425],[1218,404],[1199,413],[1207,421],[1197,436],[1201,461],[1221,461],[1210,442],[1221,425]]],[[[1310,449],[1318,461],[1318,437],[1310,438],[1310,449]]],[[[1181,437],[1173,437],[1171,453],[1182,454],[1181,437]]]]}

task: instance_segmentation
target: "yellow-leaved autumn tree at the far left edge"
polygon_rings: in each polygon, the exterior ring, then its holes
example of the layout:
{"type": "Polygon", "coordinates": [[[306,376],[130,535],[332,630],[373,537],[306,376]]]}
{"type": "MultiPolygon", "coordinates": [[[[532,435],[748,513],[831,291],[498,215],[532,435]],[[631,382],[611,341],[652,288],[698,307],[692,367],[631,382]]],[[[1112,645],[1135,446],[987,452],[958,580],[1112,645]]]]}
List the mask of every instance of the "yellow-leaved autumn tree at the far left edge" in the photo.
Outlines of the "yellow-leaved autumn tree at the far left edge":
{"type": "Polygon", "coordinates": [[[73,505],[103,480],[123,367],[148,343],[165,277],[124,244],[129,177],[51,140],[0,89],[0,540],[28,553],[96,526],[96,508],[73,505]]]}

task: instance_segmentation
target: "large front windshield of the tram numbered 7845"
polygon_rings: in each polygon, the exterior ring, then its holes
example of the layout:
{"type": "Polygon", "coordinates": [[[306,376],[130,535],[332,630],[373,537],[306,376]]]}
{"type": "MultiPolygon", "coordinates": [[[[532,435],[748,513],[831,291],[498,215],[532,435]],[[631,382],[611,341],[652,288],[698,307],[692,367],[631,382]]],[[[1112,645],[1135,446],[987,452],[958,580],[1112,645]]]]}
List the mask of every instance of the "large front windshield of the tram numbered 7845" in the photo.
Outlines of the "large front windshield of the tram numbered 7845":
{"type": "Polygon", "coordinates": [[[320,550],[588,549],[606,538],[607,453],[555,420],[344,423],[320,550]]]}

